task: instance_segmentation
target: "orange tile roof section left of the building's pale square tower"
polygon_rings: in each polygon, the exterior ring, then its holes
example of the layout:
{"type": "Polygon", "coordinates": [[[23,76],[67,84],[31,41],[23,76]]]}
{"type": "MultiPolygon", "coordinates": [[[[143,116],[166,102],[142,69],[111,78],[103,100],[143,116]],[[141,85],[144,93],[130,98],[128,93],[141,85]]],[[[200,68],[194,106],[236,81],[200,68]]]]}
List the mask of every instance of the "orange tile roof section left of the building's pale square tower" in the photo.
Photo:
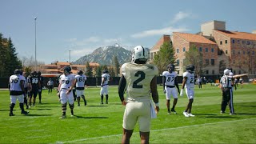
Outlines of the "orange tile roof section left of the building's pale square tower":
{"type": "Polygon", "coordinates": [[[203,37],[202,35],[198,35],[198,34],[174,32],[174,35],[177,35],[178,37],[183,38],[187,42],[216,44],[215,42],[212,42],[209,39],[203,37]]]}

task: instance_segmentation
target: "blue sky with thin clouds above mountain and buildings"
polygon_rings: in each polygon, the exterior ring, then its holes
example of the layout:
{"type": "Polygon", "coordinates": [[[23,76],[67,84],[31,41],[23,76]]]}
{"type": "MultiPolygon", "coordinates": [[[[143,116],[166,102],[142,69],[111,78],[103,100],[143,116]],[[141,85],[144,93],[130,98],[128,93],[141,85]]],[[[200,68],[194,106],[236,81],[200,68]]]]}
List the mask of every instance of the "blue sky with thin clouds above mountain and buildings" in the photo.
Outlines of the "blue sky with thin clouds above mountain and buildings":
{"type": "Polygon", "coordinates": [[[100,46],[152,48],[162,34],[197,33],[204,22],[226,30],[256,30],[254,0],[0,0],[0,33],[20,58],[71,62],[100,46]]]}

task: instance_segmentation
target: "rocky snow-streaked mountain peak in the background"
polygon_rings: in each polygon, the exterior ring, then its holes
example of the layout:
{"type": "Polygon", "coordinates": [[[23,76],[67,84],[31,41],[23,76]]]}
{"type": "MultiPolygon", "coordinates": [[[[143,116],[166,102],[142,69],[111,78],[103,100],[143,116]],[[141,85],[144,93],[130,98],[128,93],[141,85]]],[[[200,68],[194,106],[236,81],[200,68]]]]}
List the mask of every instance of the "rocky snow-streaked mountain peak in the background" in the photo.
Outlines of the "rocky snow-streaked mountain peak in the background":
{"type": "Polygon", "coordinates": [[[130,54],[130,50],[126,50],[124,47],[114,44],[114,46],[99,47],[94,50],[93,53],[86,54],[73,62],[73,64],[84,65],[86,62],[97,62],[100,65],[114,65],[113,57],[116,55],[119,64],[122,65],[125,62],[130,62],[130,54]]]}

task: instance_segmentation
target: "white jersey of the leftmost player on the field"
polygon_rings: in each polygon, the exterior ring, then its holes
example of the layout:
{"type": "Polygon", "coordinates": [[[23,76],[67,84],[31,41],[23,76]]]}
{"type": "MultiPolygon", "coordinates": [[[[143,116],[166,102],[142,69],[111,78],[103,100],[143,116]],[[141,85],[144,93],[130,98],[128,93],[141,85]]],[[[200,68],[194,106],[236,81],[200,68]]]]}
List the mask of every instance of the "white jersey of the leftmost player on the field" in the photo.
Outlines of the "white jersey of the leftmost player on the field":
{"type": "Polygon", "coordinates": [[[20,86],[20,82],[25,82],[25,77],[17,74],[17,75],[11,75],[9,82],[10,82],[10,91],[22,91],[22,88],[20,86]]]}

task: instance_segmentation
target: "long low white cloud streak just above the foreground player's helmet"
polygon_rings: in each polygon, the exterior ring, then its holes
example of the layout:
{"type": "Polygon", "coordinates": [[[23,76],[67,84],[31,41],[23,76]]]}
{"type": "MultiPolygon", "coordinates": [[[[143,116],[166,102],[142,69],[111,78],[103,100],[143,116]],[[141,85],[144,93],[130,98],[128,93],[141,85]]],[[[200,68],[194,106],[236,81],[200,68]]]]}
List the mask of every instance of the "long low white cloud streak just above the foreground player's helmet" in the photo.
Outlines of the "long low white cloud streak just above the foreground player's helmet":
{"type": "Polygon", "coordinates": [[[182,31],[187,31],[185,27],[182,28],[174,28],[172,26],[165,27],[162,29],[157,29],[157,30],[145,30],[137,34],[132,34],[132,38],[144,38],[144,37],[149,37],[149,36],[154,36],[154,35],[162,35],[162,34],[171,34],[172,32],[182,32],[182,31]]]}

